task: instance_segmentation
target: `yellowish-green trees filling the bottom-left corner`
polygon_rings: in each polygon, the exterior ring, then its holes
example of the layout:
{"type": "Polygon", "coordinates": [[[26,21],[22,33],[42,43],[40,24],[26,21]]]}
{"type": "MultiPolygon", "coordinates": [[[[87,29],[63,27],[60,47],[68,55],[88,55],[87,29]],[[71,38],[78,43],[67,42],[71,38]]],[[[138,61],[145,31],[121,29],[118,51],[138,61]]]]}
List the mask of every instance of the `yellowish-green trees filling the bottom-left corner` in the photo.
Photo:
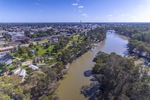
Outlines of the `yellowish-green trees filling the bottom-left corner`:
{"type": "Polygon", "coordinates": [[[30,91],[26,85],[20,85],[21,78],[12,76],[0,77],[0,100],[29,100],[30,91]]]}

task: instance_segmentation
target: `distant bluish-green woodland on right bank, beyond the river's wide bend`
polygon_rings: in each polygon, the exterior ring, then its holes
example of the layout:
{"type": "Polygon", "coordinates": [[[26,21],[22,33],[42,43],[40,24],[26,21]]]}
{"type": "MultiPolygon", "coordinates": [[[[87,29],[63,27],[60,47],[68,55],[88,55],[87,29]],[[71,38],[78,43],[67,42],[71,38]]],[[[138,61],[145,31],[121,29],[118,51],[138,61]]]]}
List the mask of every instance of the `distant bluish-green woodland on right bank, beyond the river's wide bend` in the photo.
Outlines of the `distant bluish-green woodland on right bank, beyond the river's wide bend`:
{"type": "Polygon", "coordinates": [[[130,53],[136,53],[138,56],[143,56],[149,59],[150,24],[115,24],[110,25],[109,29],[114,29],[118,34],[130,37],[128,44],[130,53]]]}

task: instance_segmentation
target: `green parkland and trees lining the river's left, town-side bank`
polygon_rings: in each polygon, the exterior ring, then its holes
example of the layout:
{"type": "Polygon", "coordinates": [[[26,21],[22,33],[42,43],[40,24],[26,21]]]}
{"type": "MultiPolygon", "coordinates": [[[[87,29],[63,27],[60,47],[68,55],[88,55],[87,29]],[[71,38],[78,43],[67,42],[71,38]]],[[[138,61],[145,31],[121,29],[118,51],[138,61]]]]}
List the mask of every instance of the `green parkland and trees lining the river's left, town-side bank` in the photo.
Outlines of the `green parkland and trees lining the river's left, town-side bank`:
{"type": "MultiPolygon", "coordinates": [[[[100,42],[105,37],[105,29],[96,28],[72,38],[60,37],[59,41],[53,44],[47,42],[44,45],[37,43],[36,45],[30,44],[29,47],[19,46],[18,50],[17,48],[14,49],[12,56],[24,60],[33,59],[33,63],[44,62],[46,65],[37,71],[31,71],[23,66],[27,69],[28,76],[21,84],[21,79],[14,76],[10,76],[10,78],[0,77],[1,82],[3,82],[0,85],[0,90],[6,91],[0,94],[0,99],[57,99],[54,91],[57,88],[57,81],[63,77],[65,65],[90,50],[93,43],[100,42]],[[35,52],[31,52],[31,50],[35,52]],[[51,64],[55,64],[53,68],[48,67],[51,64]]],[[[20,66],[19,61],[16,61],[15,64],[20,66]]]]}

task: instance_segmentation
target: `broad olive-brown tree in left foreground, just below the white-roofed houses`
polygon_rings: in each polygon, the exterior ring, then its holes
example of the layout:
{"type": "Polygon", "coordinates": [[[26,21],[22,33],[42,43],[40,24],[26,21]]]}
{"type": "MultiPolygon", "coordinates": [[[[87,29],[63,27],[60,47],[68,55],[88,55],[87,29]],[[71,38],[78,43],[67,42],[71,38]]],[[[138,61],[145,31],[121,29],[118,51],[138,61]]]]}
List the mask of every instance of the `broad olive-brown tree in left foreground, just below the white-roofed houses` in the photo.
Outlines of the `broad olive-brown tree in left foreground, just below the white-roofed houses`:
{"type": "Polygon", "coordinates": [[[34,71],[29,74],[26,84],[31,86],[31,99],[45,98],[44,95],[52,96],[57,74],[49,67],[42,67],[41,71],[34,71]]]}

